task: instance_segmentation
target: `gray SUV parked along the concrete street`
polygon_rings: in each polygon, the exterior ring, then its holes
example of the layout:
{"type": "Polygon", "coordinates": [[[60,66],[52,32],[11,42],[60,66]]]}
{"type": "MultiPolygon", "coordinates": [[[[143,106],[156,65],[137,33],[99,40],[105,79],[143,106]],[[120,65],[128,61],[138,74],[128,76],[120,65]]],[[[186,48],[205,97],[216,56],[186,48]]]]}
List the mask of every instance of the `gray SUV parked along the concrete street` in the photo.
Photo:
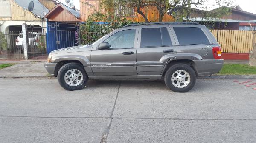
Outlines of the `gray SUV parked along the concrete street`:
{"type": "Polygon", "coordinates": [[[191,90],[197,76],[218,73],[221,47],[195,22],[126,25],[92,45],[49,53],[47,71],[66,90],[82,89],[88,79],[162,79],[172,91],[191,90]]]}

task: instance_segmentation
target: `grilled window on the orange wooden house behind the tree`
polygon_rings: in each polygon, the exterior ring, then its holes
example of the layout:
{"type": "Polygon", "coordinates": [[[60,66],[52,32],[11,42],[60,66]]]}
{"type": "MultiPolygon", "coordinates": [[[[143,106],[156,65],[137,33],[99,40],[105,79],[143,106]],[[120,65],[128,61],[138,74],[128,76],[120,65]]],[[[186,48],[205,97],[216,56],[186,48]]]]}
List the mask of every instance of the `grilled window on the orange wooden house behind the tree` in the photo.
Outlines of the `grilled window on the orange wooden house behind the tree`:
{"type": "Polygon", "coordinates": [[[116,6],[115,14],[117,16],[134,17],[134,8],[125,6],[116,6]]]}

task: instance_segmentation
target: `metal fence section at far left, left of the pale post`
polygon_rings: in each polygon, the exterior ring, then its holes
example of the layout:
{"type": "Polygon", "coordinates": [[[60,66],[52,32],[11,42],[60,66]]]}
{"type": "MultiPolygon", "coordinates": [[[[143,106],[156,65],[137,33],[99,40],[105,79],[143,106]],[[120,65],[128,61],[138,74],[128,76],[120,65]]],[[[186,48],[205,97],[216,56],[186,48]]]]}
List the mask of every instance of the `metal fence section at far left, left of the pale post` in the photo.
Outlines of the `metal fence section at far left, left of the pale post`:
{"type": "Polygon", "coordinates": [[[24,59],[21,31],[0,33],[0,58],[24,59]]]}

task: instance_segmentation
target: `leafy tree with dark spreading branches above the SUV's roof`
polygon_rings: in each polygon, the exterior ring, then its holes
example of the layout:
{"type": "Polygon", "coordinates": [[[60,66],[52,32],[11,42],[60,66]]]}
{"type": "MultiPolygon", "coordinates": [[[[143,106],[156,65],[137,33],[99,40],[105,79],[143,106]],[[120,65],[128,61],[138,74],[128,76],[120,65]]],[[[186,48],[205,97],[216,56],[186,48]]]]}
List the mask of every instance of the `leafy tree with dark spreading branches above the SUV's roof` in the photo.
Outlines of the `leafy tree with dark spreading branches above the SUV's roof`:
{"type": "MultiPolygon", "coordinates": [[[[142,9],[146,6],[153,6],[157,9],[159,14],[158,22],[162,22],[164,14],[167,12],[172,14],[176,20],[183,20],[183,17],[189,18],[191,6],[204,7],[204,4],[206,4],[208,1],[209,0],[102,0],[102,3],[107,11],[120,6],[123,8],[136,8],[137,13],[142,15],[142,17],[145,19],[145,22],[149,22],[149,20],[142,9]]],[[[227,6],[229,6],[232,1],[233,0],[215,0],[215,4],[222,8],[215,12],[206,12],[205,15],[213,16],[213,14],[215,14],[215,18],[218,18],[216,17],[218,16],[218,13],[227,13],[226,10],[222,10],[225,8],[227,9],[227,6]]],[[[204,8],[207,9],[208,7],[204,8]]]]}

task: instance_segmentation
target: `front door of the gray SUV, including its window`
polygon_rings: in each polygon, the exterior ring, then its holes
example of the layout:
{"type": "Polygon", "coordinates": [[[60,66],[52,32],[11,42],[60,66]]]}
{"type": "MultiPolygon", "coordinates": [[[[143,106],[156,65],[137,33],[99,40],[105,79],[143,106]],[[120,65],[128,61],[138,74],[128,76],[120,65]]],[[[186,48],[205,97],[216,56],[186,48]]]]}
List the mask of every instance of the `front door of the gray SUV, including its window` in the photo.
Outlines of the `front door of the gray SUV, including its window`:
{"type": "Polygon", "coordinates": [[[138,28],[117,31],[103,42],[111,50],[92,50],[91,67],[95,76],[134,76],[138,28]]]}

